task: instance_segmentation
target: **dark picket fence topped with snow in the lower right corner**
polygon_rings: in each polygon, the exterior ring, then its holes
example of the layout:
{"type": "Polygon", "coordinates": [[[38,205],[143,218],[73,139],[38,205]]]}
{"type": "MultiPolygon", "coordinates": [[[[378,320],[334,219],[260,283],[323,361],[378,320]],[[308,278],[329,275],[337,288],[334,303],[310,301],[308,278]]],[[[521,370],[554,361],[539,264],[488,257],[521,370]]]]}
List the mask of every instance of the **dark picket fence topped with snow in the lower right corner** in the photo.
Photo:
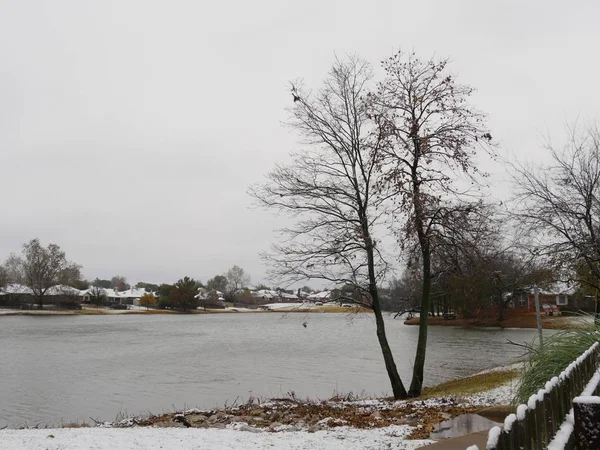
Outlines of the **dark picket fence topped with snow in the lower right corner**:
{"type": "Polygon", "coordinates": [[[492,428],[486,450],[600,448],[600,397],[593,396],[600,385],[599,361],[596,342],[526,405],[519,405],[504,428],[492,428]]]}

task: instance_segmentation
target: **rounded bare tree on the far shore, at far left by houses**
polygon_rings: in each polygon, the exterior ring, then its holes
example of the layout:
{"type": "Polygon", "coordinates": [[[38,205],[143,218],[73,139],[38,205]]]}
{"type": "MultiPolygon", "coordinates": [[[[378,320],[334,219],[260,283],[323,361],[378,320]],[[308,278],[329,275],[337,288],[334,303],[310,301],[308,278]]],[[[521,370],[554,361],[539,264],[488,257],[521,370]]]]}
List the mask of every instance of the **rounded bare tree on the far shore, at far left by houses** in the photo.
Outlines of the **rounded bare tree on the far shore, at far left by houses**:
{"type": "Polygon", "coordinates": [[[79,276],[80,273],[80,266],[69,262],[58,245],[43,247],[39,239],[24,244],[21,256],[12,258],[15,277],[33,291],[40,309],[44,307],[44,299],[50,288],[61,283],[67,284],[70,276],[79,276]]]}

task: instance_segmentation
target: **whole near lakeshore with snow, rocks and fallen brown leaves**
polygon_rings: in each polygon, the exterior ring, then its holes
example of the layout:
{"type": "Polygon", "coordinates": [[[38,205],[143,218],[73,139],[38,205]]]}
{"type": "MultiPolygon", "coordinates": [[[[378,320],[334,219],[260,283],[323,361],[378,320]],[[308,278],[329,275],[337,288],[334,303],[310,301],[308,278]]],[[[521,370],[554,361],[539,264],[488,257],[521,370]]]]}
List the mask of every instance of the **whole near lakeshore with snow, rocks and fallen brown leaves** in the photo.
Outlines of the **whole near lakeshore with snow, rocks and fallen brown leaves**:
{"type": "MultiPolygon", "coordinates": [[[[492,371],[514,368],[508,366],[492,371]]],[[[516,384],[517,381],[512,380],[457,398],[399,401],[285,398],[210,411],[193,409],[146,418],[132,417],[96,427],[5,429],[0,430],[0,448],[416,449],[434,442],[427,437],[436,423],[485,407],[508,404],[516,384]]]]}

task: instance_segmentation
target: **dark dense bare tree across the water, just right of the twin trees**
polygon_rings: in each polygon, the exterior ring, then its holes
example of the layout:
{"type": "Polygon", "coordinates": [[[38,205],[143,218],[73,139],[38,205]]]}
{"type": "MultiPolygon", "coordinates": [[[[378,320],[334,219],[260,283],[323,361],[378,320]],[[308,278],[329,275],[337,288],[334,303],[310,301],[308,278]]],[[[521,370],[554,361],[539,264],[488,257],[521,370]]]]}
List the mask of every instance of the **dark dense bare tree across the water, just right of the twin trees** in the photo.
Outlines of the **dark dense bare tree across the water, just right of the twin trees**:
{"type": "Polygon", "coordinates": [[[503,321],[508,294],[548,278],[536,255],[523,247],[517,224],[494,205],[455,207],[443,215],[442,225],[432,237],[432,296],[466,317],[497,308],[503,321]]]}

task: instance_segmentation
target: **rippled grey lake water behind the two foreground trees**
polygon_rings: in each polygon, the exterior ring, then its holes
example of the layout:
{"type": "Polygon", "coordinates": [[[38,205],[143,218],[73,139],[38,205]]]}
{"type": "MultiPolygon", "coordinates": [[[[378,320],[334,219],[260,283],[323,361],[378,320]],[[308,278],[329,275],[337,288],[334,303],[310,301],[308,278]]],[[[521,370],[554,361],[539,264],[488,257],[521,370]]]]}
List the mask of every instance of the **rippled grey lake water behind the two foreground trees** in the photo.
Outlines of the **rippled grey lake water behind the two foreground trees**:
{"type": "MultiPolygon", "coordinates": [[[[387,320],[403,381],[418,328],[387,320]]],[[[426,384],[506,364],[535,330],[432,327],[426,384]]],[[[371,315],[0,317],[0,427],[391,392],[371,315]],[[304,327],[302,322],[306,321],[304,327]]]]}

